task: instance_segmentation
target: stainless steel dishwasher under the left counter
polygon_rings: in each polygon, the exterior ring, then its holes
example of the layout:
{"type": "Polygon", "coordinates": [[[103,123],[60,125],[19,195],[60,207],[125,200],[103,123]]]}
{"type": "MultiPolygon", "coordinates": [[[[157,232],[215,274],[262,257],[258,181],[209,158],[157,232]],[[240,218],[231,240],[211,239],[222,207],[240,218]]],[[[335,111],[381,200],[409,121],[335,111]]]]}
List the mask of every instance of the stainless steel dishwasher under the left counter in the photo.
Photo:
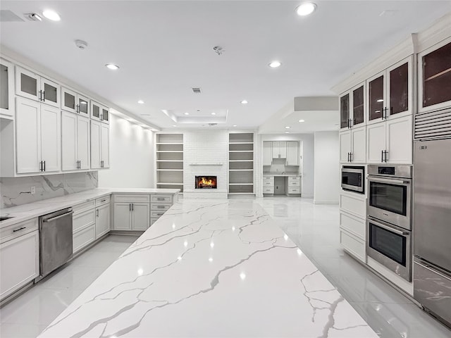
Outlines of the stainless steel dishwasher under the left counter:
{"type": "MultiPolygon", "coordinates": [[[[39,217],[40,280],[72,257],[72,208],[39,217]]],[[[36,281],[35,280],[35,281],[36,281]]]]}

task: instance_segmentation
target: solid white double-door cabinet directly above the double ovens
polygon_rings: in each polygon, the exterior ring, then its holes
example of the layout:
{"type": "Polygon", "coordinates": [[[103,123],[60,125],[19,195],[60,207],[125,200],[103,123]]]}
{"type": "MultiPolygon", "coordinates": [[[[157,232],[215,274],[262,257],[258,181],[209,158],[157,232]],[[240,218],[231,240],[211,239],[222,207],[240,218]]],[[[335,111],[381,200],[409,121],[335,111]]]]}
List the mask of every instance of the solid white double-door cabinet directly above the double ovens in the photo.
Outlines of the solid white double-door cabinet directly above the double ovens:
{"type": "Polygon", "coordinates": [[[412,164],[412,115],[368,125],[367,163],[412,164]]]}

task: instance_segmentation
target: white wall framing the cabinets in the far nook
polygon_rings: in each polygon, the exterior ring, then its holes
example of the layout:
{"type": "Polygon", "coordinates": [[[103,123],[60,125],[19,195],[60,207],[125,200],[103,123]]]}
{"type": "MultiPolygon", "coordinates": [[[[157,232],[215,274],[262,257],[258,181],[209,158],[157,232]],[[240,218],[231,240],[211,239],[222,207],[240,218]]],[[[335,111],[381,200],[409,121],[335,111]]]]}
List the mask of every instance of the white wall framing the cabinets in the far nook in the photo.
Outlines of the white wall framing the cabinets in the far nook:
{"type": "MultiPolygon", "coordinates": [[[[338,134],[337,134],[338,135],[338,134]]],[[[337,136],[338,137],[338,136],[337,136]]],[[[299,141],[299,153],[302,155],[302,167],[300,168],[301,177],[301,193],[302,197],[307,199],[313,198],[314,195],[314,134],[261,134],[259,135],[259,149],[257,156],[257,163],[255,168],[257,171],[257,182],[259,192],[257,196],[263,196],[261,192],[261,175],[263,174],[263,165],[261,163],[261,147],[264,141],[299,141]]]]}

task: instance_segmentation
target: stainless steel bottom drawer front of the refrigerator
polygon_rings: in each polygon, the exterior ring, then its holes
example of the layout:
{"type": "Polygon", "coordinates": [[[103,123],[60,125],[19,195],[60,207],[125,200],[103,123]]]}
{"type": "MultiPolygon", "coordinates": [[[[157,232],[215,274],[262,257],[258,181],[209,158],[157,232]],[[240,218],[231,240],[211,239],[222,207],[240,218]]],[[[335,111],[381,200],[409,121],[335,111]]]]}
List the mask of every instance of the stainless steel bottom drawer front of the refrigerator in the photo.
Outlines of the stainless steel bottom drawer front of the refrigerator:
{"type": "Polygon", "coordinates": [[[414,299],[451,325],[451,276],[415,258],[414,299]]]}

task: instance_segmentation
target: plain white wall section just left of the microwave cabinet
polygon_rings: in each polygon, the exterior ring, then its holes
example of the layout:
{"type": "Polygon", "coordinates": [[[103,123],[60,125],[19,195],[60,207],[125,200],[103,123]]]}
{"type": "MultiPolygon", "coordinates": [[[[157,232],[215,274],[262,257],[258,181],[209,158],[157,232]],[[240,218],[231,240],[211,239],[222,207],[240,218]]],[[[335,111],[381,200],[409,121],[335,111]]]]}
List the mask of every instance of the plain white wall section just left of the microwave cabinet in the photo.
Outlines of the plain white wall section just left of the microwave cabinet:
{"type": "Polygon", "coordinates": [[[340,170],[338,132],[315,132],[314,203],[338,204],[340,170]]]}

